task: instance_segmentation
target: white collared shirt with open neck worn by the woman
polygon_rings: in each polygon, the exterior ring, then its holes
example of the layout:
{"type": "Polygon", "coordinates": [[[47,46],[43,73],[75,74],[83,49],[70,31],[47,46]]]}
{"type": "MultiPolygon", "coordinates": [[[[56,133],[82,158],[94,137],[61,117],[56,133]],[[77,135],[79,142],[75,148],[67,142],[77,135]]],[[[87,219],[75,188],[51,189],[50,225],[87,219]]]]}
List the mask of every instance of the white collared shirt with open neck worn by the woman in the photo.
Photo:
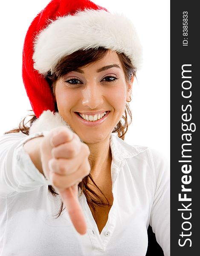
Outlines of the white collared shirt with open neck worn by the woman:
{"type": "Polygon", "coordinates": [[[170,255],[169,169],[164,157],[112,134],[113,205],[99,234],[83,194],[79,201],[87,233],[81,236],[67,210],[55,218],[61,198],[48,192],[49,181],[23,149],[38,134],[0,138],[1,256],[145,256],[149,224],[165,256],[170,255]]]}

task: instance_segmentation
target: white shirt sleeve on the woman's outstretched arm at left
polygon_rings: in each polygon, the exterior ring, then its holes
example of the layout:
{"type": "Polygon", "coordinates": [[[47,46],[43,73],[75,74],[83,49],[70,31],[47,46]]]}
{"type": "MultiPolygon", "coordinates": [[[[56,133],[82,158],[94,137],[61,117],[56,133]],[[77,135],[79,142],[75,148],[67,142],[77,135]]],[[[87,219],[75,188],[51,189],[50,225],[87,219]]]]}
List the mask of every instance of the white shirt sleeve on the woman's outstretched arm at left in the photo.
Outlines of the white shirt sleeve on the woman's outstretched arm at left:
{"type": "Polygon", "coordinates": [[[45,131],[29,136],[12,133],[0,137],[1,197],[9,197],[17,192],[32,191],[41,186],[50,185],[23,148],[24,143],[28,140],[45,134],[45,131]]]}

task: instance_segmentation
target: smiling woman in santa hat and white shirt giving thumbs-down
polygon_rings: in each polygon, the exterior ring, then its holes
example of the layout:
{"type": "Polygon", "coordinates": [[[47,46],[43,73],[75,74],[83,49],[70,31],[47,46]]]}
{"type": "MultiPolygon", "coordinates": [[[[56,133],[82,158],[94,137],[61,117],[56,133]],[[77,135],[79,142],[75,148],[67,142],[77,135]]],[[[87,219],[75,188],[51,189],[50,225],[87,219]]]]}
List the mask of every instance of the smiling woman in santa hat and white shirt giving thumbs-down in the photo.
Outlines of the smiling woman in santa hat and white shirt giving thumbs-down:
{"type": "Polygon", "coordinates": [[[145,255],[149,224],[169,255],[167,165],[123,141],[140,62],[130,21],[88,0],[52,0],[32,22],[35,115],[1,138],[2,255],[145,255]]]}

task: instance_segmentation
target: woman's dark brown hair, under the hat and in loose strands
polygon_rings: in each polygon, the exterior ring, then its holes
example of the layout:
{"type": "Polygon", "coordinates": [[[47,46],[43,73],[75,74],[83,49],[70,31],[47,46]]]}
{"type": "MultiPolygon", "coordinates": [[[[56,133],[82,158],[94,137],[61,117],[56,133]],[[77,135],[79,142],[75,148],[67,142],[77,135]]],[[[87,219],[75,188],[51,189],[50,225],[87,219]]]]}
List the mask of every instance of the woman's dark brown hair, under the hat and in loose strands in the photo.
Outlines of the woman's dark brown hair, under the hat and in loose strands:
{"type": "MultiPolygon", "coordinates": [[[[87,49],[87,50],[78,50],[64,58],[62,58],[52,73],[48,73],[46,76],[46,80],[49,83],[49,86],[52,90],[52,93],[55,92],[55,81],[59,79],[60,77],[64,76],[66,73],[76,70],[80,67],[85,67],[95,61],[101,60],[106,53],[108,52],[108,49],[104,49],[103,47],[99,47],[98,49],[87,49]]],[[[122,64],[124,73],[125,73],[125,79],[127,82],[131,81],[131,77],[136,76],[136,68],[131,64],[128,57],[125,56],[124,53],[118,53],[119,60],[122,64]]],[[[55,104],[55,111],[58,111],[57,105],[55,104]]],[[[31,127],[32,123],[37,119],[34,114],[29,115],[31,119],[25,123],[26,117],[20,122],[19,127],[15,128],[11,131],[6,132],[8,133],[15,133],[15,132],[23,132],[26,135],[29,135],[29,128],[31,127]]],[[[118,122],[116,127],[113,129],[113,133],[117,133],[118,137],[124,140],[125,134],[128,130],[128,126],[130,125],[132,121],[132,115],[129,108],[129,105],[126,104],[125,112],[122,116],[122,119],[118,122]],[[128,117],[130,120],[128,120],[128,117]]],[[[90,157],[89,161],[91,163],[90,157]]],[[[91,163],[92,164],[92,163],[91,163]]],[[[105,197],[104,193],[101,191],[101,189],[96,185],[95,181],[93,180],[93,177],[91,174],[84,177],[84,179],[78,184],[78,187],[81,189],[81,193],[84,193],[88,206],[90,207],[93,216],[95,216],[96,220],[96,209],[94,205],[98,206],[111,206],[109,204],[109,201],[105,197]],[[103,197],[106,199],[106,202],[104,199],[101,198],[95,191],[93,191],[88,185],[91,184],[90,180],[92,181],[93,185],[96,187],[96,189],[103,195],[103,197]]],[[[55,192],[54,188],[49,185],[48,187],[49,192],[52,193],[52,195],[56,196],[58,193],[55,192]]],[[[61,201],[61,208],[59,213],[57,214],[57,217],[61,215],[61,212],[64,210],[63,208],[63,202],[61,201]]]]}

